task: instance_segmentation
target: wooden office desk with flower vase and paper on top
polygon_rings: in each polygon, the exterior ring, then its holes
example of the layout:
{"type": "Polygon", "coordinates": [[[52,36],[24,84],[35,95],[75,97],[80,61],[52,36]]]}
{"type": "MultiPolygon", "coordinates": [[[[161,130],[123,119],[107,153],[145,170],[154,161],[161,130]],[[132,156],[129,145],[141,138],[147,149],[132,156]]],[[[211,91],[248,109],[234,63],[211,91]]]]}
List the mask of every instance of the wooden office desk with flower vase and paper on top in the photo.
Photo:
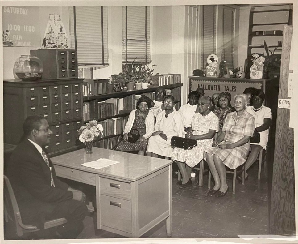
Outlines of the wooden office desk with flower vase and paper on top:
{"type": "Polygon", "coordinates": [[[57,176],[96,186],[97,229],[140,237],[166,219],[171,236],[172,161],[94,148],[53,157],[57,176]],[[82,163],[107,158],[119,161],[102,169],[82,163]]]}

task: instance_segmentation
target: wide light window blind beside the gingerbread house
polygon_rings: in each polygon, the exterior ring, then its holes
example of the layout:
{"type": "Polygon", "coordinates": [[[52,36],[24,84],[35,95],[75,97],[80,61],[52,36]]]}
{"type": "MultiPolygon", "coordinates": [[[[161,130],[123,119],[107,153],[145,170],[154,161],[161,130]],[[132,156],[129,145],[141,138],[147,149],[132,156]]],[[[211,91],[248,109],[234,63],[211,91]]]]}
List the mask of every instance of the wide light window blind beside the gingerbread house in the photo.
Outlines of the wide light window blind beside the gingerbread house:
{"type": "Polygon", "coordinates": [[[107,7],[70,7],[72,47],[80,66],[109,63],[107,7]]]}

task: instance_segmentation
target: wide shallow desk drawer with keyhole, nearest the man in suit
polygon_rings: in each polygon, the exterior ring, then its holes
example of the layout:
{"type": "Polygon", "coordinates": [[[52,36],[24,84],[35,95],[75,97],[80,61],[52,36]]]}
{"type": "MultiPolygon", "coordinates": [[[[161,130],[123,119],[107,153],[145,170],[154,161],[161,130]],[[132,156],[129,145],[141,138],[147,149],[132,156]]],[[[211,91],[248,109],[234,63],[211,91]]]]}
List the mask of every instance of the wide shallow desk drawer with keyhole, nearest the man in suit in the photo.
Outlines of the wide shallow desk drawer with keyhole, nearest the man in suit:
{"type": "Polygon", "coordinates": [[[66,168],[60,165],[55,165],[55,171],[57,176],[59,177],[95,186],[96,175],[93,173],[88,173],[77,169],[66,168]]]}

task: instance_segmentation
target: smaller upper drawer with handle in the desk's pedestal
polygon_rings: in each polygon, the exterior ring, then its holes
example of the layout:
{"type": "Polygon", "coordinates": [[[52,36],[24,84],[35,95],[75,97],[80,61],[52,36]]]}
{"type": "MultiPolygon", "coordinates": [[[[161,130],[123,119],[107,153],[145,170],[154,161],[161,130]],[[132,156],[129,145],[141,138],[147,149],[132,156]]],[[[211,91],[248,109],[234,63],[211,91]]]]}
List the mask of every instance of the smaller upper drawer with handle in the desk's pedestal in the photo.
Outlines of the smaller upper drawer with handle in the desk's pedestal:
{"type": "Polygon", "coordinates": [[[131,199],[130,183],[111,180],[108,178],[99,178],[100,194],[113,196],[121,199],[131,199]]]}

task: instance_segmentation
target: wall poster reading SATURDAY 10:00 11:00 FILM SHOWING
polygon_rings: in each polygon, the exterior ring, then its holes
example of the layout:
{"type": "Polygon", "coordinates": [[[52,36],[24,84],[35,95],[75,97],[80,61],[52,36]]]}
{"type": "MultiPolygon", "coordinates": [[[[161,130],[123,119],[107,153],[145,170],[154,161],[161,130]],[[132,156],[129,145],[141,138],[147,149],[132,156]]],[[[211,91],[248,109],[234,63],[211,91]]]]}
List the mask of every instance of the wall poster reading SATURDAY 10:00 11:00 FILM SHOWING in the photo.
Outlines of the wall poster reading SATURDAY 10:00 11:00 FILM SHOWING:
{"type": "Polygon", "coordinates": [[[39,8],[2,7],[5,47],[40,47],[39,8]]]}

